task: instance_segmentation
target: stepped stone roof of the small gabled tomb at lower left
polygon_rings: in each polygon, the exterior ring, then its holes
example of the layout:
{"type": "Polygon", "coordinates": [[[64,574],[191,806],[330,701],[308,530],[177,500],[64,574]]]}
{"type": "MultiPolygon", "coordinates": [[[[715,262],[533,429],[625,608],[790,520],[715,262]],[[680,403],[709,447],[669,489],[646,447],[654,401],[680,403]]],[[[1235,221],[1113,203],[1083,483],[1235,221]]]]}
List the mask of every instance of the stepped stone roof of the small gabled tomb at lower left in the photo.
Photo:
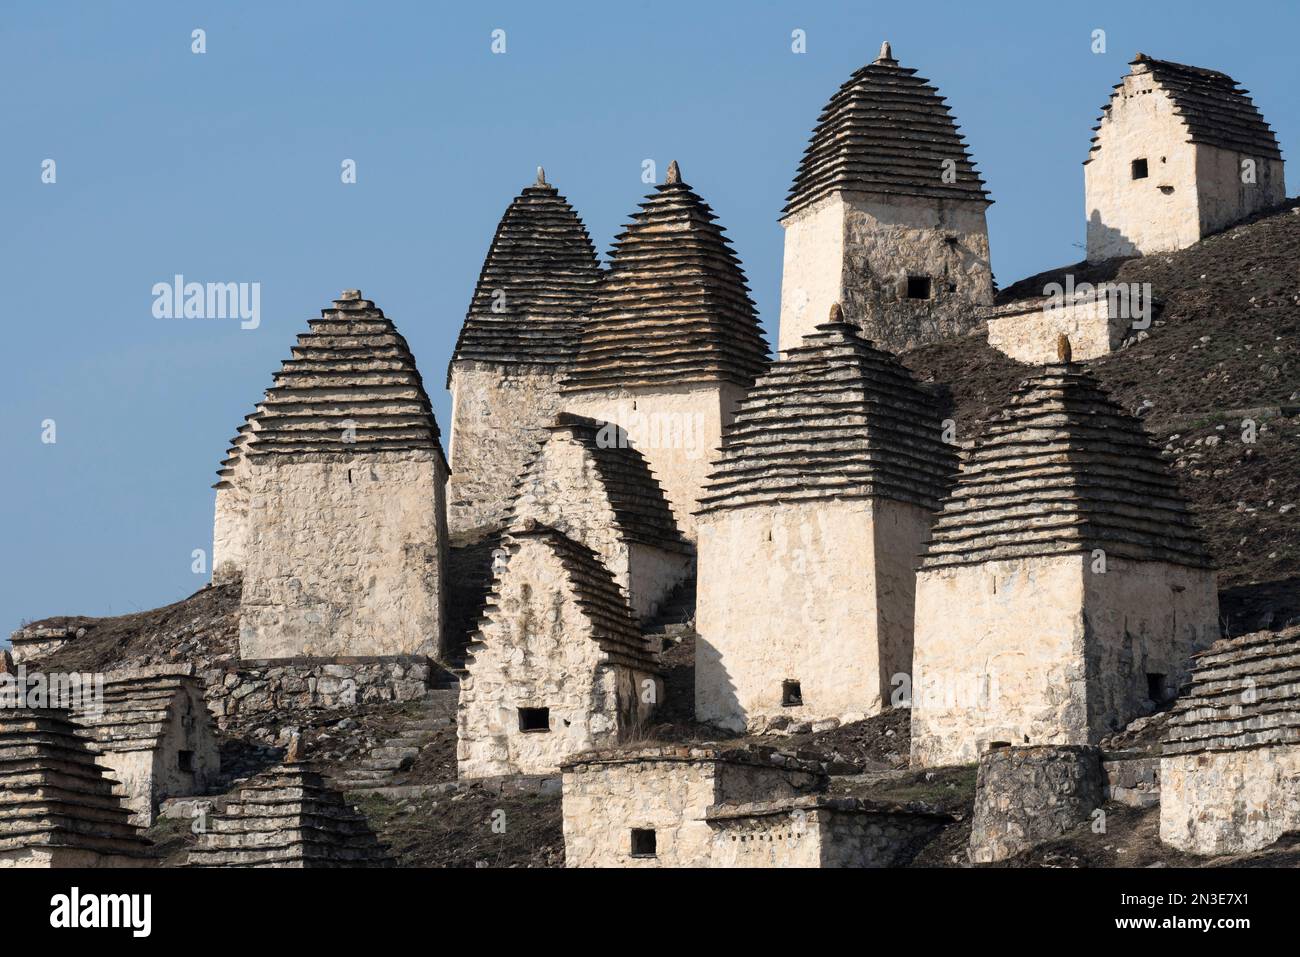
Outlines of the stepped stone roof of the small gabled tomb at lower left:
{"type": "Polygon", "coordinates": [[[74,709],[73,716],[95,752],[153,750],[172,727],[178,697],[190,693],[203,702],[196,677],[168,668],[110,672],[104,676],[103,702],[74,709]]]}

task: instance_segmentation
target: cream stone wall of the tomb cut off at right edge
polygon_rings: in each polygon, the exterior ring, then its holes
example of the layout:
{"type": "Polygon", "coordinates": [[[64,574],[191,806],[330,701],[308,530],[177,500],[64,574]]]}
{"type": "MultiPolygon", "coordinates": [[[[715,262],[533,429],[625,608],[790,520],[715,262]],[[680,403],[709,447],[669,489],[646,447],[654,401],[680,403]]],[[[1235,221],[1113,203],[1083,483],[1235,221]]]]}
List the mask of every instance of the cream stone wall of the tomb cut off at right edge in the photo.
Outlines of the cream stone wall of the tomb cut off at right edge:
{"type": "Polygon", "coordinates": [[[1160,839],[1193,854],[1240,854],[1300,828],[1300,746],[1165,755],[1160,839]]]}

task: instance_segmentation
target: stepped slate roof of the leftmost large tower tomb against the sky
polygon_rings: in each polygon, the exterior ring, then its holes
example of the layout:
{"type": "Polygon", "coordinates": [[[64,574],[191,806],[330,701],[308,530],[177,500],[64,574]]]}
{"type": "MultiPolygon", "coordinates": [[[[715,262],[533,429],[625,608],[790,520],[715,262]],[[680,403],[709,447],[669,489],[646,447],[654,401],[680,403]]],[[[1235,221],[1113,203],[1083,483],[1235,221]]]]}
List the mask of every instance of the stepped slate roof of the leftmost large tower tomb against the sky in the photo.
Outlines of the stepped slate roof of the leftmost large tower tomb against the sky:
{"type": "MultiPolygon", "coordinates": [[[[393,320],[355,289],[308,320],[234,456],[428,450],[442,455],[415,356],[393,320]]],[[[222,463],[222,477],[231,459],[222,463]]],[[[220,482],[218,482],[220,485],[220,482]]]]}

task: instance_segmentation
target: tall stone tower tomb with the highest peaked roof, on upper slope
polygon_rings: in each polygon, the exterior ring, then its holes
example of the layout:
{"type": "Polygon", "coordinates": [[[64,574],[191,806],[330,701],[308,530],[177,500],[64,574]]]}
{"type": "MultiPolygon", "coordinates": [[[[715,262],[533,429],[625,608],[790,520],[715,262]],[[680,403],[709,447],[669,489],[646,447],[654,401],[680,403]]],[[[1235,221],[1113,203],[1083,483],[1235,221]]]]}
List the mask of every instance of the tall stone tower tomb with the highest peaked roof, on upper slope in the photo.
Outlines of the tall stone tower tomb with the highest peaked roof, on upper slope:
{"type": "Polygon", "coordinates": [[[822,111],[794,176],[780,350],[832,303],[896,352],[976,329],[993,303],[991,202],[944,98],[883,44],[822,111]]]}

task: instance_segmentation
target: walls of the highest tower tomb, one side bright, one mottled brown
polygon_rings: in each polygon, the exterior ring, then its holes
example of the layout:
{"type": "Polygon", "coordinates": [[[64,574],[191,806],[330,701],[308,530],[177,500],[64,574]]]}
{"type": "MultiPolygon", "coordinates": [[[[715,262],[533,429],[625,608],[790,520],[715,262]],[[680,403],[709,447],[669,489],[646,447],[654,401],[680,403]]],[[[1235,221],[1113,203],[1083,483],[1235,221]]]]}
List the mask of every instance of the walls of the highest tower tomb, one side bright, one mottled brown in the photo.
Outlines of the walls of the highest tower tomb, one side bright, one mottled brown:
{"type": "Polygon", "coordinates": [[[835,303],[893,352],[968,333],[975,307],[993,303],[984,203],[833,194],[781,225],[781,351],[835,303]],[[907,299],[909,276],[928,277],[932,298],[907,299]]]}

